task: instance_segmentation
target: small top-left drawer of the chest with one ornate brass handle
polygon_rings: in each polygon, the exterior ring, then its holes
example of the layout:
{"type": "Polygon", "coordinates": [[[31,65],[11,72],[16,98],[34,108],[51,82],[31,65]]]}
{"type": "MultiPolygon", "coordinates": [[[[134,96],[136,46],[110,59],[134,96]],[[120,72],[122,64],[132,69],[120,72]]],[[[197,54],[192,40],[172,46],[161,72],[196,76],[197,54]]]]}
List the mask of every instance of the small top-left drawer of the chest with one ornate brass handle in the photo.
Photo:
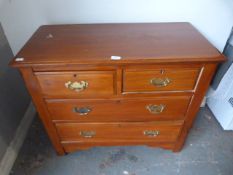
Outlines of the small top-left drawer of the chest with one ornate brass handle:
{"type": "Polygon", "coordinates": [[[44,96],[94,97],[115,93],[114,71],[36,72],[44,96]]]}

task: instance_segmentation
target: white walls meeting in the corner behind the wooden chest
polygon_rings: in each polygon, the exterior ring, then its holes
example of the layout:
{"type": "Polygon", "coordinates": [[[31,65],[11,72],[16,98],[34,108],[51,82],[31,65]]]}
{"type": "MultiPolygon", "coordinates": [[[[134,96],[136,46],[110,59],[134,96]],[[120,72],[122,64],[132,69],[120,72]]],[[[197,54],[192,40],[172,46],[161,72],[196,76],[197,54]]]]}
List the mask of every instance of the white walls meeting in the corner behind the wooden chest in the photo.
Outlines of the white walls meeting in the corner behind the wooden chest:
{"type": "Polygon", "coordinates": [[[0,21],[14,53],[41,24],[188,21],[220,51],[233,25],[231,0],[5,1],[0,21]]]}

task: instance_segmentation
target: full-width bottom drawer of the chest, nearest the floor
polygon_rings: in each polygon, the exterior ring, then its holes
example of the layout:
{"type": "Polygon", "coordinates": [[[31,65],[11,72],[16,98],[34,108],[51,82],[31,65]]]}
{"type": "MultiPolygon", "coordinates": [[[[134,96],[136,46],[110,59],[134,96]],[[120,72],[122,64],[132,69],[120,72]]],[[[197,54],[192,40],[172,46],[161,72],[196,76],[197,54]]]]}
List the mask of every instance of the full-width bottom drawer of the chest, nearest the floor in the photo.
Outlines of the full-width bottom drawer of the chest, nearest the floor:
{"type": "Polygon", "coordinates": [[[157,123],[57,123],[61,141],[154,140],[176,141],[182,122],[157,123]]]}

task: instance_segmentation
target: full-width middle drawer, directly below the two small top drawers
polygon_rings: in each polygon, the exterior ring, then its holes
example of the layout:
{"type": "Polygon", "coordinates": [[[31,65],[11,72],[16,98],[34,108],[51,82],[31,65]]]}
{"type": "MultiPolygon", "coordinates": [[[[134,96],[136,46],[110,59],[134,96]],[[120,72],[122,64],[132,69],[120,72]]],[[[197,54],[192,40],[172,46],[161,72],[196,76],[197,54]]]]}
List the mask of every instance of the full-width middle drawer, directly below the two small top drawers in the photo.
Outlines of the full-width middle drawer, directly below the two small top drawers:
{"type": "Polygon", "coordinates": [[[46,100],[52,120],[122,122],[184,119],[191,96],[125,100],[46,100]]]}

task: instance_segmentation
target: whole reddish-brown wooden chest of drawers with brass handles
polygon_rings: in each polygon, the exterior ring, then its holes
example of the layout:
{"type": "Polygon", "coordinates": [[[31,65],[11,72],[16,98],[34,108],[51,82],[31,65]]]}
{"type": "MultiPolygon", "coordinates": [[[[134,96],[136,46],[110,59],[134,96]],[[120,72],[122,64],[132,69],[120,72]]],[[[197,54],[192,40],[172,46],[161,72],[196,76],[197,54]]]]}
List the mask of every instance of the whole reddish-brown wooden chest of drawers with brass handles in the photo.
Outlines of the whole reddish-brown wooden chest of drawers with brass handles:
{"type": "Polygon", "coordinates": [[[111,145],[179,151],[221,61],[189,23],[82,24],[40,27],[11,65],[63,155],[111,145]]]}

